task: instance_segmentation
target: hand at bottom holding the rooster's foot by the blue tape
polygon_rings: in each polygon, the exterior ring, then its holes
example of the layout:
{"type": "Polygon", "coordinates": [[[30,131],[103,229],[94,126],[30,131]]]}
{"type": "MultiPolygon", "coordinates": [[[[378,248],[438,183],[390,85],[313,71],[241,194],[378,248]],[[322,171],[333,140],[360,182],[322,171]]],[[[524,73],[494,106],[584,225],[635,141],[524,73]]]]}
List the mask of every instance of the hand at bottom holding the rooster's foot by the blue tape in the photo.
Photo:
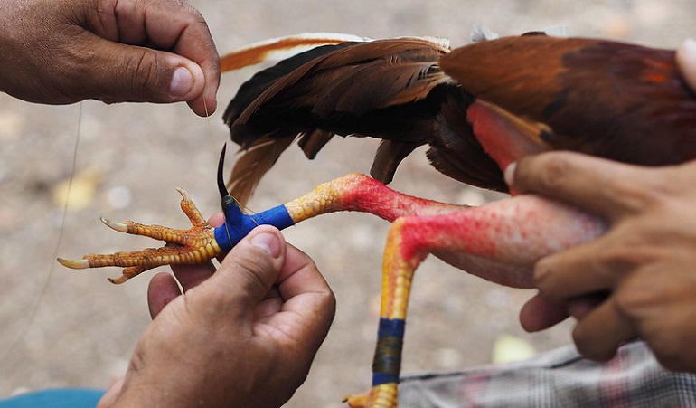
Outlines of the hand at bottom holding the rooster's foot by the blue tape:
{"type": "Polygon", "coordinates": [[[295,393],[334,317],[314,262],[260,226],[213,271],[178,267],[183,296],[171,275],[151,280],[154,320],[99,407],[277,407],[295,393]]]}

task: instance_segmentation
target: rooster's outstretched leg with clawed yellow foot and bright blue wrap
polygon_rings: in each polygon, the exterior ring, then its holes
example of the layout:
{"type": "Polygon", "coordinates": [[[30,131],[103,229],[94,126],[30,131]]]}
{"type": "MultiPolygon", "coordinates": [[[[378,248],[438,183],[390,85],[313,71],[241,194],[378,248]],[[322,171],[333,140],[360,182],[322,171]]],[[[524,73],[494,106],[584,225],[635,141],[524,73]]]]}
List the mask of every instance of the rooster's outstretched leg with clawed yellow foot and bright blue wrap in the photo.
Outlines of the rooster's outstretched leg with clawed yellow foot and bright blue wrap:
{"type": "Polygon", "coordinates": [[[280,229],[322,213],[360,211],[373,213],[388,221],[408,214],[451,213],[461,210],[461,205],[443,204],[397,193],[368,176],[348,175],[324,183],[311,193],[279,205],[263,213],[247,215],[229,196],[222,197],[225,223],[213,228],[205,221],[189,195],[179,189],[183,199],[183,213],[191,220],[188,230],[174,230],[160,225],[143,225],[127,221],[113,223],[102,219],[108,227],[118,231],[143,235],[162,240],[165,246],[143,251],[89,254],[78,261],[59,259],[64,266],[73,269],[123,267],[122,276],[109,279],[123,283],[136,275],[161,265],[202,263],[211,260],[240,241],[259,224],[271,224],[280,229]]]}

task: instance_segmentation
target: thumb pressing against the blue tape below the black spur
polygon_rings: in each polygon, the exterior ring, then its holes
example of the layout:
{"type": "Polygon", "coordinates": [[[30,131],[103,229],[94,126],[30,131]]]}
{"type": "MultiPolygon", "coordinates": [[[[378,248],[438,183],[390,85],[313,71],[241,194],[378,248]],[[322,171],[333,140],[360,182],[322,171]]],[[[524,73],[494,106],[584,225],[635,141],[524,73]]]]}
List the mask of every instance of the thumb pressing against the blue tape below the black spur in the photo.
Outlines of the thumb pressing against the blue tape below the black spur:
{"type": "Polygon", "coordinates": [[[261,225],[232,248],[218,271],[202,285],[212,285],[214,290],[224,293],[222,302],[254,307],[277,282],[286,250],[286,242],[277,228],[261,225]]]}

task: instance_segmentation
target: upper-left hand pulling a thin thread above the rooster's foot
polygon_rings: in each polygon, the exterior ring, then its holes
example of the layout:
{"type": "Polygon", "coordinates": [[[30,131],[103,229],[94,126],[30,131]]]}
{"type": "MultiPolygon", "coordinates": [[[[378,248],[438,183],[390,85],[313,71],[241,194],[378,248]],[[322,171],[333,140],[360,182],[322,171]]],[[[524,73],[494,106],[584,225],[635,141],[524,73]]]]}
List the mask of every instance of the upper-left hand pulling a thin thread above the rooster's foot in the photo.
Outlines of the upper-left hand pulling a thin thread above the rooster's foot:
{"type": "Polygon", "coordinates": [[[184,0],[0,0],[0,55],[0,90],[22,100],[217,106],[220,58],[184,0]]]}

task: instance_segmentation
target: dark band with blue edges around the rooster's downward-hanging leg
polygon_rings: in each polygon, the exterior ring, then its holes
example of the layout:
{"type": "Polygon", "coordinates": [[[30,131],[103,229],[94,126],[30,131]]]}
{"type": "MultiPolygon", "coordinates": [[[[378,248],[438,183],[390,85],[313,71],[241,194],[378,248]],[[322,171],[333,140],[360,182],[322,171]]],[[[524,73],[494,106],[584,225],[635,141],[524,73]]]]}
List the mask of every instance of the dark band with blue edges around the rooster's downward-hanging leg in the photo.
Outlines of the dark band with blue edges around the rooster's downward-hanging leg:
{"type": "Polygon", "coordinates": [[[406,321],[400,318],[381,318],[377,333],[377,349],[372,363],[372,386],[399,383],[401,347],[406,321]]]}

